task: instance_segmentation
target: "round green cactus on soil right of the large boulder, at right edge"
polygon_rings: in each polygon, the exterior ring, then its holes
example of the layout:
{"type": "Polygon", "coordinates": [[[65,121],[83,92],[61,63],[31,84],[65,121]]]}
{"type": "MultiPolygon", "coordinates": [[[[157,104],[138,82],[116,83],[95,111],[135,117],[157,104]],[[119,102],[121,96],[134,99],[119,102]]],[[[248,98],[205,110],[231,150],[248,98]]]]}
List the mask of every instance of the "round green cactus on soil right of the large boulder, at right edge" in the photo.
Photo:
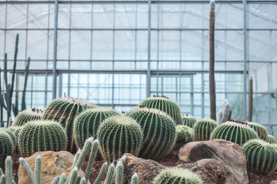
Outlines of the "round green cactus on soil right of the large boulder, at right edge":
{"type": "Polygon", "coordinates": [[[252,172],[270,175],[277,168],[277,150],[261,139],[253,139],[242,147],[247,156],[247,169],[252,172]]]}

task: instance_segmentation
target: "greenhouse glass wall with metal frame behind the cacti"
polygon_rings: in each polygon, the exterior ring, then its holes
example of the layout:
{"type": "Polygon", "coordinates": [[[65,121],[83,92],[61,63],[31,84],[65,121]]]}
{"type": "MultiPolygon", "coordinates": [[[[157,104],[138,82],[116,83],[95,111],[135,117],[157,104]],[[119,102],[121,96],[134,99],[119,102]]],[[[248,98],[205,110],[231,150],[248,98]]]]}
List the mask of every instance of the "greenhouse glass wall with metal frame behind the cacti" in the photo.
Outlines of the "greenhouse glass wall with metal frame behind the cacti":
{"type": "MultiPolygon", "coordinates": [[[[159,94],[208,117],[208,14],[206,0],[0,1],[0,67],[7,52],[12,69],[19,33],[16,92],[31,57],[28,108],[66,95],[127,111],[159,94]]],[[[217,109],[229,99],[244,120],[253,76],[253,120],[277,134],[277,3],[219,1],[215,14],[217,109]]]]}

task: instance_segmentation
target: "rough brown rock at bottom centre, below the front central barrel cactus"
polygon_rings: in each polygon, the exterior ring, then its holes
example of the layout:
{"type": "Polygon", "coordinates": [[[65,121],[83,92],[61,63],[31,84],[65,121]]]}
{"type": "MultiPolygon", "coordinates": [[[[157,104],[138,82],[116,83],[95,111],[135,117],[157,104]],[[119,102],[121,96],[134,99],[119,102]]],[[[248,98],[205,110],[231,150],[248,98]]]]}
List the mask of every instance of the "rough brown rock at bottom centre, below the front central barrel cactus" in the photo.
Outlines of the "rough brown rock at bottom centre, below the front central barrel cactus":
{"type": "Polygon", "coordinates": [[[139,183],[152,183],[154,177],[166,168],[152,160],[141,159],[132,154],[124,155],[127,157],[124,165],[123,183],[130,183],[134,172],[139,175],[139,183]]]}

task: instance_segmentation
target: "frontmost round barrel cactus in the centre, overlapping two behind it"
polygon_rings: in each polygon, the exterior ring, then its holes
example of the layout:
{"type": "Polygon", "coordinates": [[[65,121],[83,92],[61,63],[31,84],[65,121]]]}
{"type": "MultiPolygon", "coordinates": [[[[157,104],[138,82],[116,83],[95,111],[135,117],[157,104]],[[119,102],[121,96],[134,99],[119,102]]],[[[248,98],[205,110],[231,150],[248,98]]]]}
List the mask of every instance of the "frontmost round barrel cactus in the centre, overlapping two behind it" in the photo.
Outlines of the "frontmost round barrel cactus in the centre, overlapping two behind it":
{"type": "Polygon", "coordinates": [[[123,154],[138,156],[143,142],[143,132],[136,121],[127,116],[111,116],[100,124],[98,130],[100,153],[105,161],[119,159],[123,154]]]}

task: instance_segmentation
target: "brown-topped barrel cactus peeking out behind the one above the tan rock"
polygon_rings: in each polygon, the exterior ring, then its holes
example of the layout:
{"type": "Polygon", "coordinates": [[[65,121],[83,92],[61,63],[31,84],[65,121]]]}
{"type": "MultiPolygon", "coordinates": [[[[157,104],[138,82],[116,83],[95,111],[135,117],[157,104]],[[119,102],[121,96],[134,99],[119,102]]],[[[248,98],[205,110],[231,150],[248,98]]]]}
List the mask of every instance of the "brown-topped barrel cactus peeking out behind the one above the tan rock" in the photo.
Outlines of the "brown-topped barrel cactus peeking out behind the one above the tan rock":
{"type": "Polygon", "coordinates": [[[22,126],[28,121],[38,119],[42,119],[42,110],[37,110],[35,108],[31,110],[24,110],[19,112],[19,114],[15,117],[15,121],[12,123],[12,126],[22,126]]]}

